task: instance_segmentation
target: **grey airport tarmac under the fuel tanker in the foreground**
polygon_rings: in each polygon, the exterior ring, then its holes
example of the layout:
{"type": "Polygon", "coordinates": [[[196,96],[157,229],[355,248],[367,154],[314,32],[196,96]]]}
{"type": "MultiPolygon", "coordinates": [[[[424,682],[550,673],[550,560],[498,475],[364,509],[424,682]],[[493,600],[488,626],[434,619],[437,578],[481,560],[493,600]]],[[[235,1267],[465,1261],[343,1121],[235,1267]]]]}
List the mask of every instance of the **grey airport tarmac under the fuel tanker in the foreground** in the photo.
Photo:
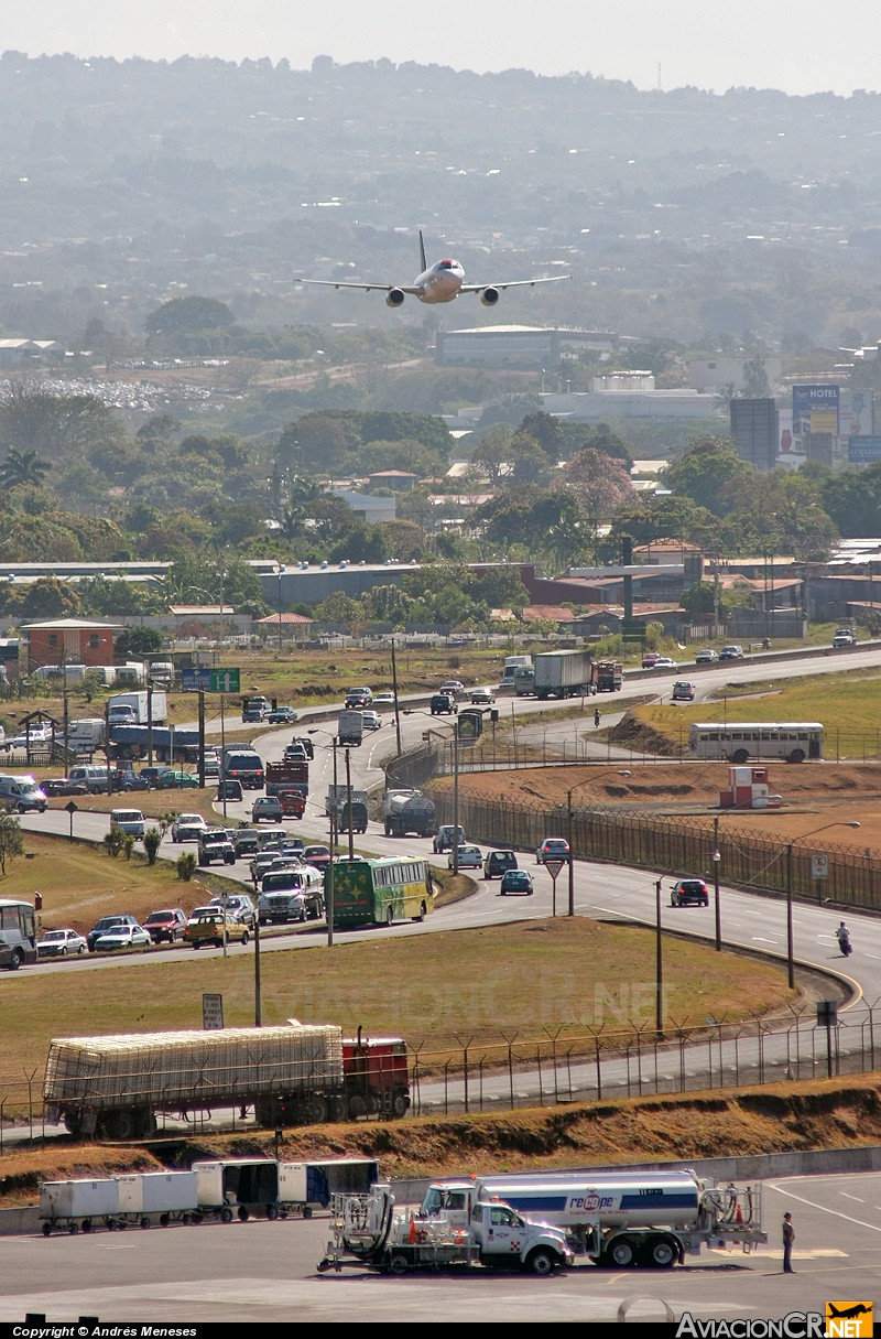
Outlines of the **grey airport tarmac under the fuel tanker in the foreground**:
{"type": "MultiPolygon", "coordinates": [[[[881,1277],[881,1174],[769,1180],[769,1243],[704,1251],[672,1271],[580,1263],[549,1279],[471,1269],[392,1277],[316,1272],[328,1220],[171,1227],[91,1236],[0,1237],[0,1322],[217,1324],[534,1324],[782,1319],[826,1299],[872,1299],[881,1277]],[[795,1224],[795,1273],[781,1272],[779,1224],[795,1224]],[[664,1303],[669,1312],[664,1310],[664,1303]],[[627,1310],[629,1307],[629,1311],[627,1310]]],[[[86,1331],[88,1334],[90,1331],[86,1331]]],[[[694,1332],[694,1331],[692,1331],[694,1332]]],[[[740,1332],[740,1331],[738,1331],[740,1332]]],[[[756,1330],[759,1334],[767,1330],[756,1330]]],[[[803,1334],[793,1330],[791,1334],[803,1334]]],[[[822,1326],[818,1334],[823,1332],[822,1326]]]]}

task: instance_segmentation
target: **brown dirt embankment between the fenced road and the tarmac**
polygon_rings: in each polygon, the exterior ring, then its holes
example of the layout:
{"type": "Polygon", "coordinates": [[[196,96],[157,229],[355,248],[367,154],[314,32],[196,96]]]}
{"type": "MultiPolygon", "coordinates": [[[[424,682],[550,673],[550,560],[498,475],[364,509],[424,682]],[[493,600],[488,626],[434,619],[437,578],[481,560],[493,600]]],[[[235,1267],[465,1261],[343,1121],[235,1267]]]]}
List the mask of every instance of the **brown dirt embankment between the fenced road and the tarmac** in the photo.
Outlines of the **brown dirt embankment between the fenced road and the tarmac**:
{"type": "MultiPolygon", "coordinates": [[[[881,1144],[881,1087],[858,1078],[287,1130],[281,1158],[379,1158],[384,1177],[541,1172],[566,1166],[750,1156],[881,1144]]],[[[143,1149],[50,1145],[1,1164],[0,1206],[32,1204],[43,1180],[111,1176],[197,1158],[274,1157],[268,1131],[143,1149]]]]}

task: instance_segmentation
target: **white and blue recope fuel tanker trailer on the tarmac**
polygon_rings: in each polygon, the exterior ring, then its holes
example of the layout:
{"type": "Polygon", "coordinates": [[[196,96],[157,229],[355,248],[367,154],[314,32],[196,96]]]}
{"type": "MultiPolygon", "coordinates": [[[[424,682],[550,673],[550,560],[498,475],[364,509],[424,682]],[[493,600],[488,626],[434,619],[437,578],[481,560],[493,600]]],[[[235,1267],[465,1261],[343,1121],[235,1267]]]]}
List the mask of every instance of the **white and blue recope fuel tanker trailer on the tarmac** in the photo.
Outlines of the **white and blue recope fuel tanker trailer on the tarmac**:
{"type": "Polygon", "coordinates": [[[467,1228],[475,1204],[503,1200],[565,1229],[594,1264],[671,1267],[702,1245],[767,1241],[762,1186],[718,1185],[691,1170],[561,1172],[436,1181],[420,1214],[467,1228]]]}

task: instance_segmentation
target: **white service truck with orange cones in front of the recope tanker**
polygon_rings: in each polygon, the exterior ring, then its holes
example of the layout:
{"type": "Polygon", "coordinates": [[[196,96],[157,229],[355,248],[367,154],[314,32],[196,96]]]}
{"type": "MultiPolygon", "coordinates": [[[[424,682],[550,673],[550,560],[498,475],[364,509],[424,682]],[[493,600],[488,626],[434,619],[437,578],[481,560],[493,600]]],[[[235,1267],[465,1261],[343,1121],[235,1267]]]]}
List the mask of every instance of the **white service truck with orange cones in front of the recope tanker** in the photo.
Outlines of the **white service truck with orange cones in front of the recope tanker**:
{"type": "Polygon", "coordinates": [[[319,1261],[321,1273],[343,1265],[402,1275],[483,1264],[546,1277],[574,1261],[564,1232],[498,1201],[477,1201],[467,1223],[454,1224],[443,1216],[395,1213],[391,1186],[380,1184],[370,1194],[333,1196],[331,1217],[333,1241],[319,1261]]]}

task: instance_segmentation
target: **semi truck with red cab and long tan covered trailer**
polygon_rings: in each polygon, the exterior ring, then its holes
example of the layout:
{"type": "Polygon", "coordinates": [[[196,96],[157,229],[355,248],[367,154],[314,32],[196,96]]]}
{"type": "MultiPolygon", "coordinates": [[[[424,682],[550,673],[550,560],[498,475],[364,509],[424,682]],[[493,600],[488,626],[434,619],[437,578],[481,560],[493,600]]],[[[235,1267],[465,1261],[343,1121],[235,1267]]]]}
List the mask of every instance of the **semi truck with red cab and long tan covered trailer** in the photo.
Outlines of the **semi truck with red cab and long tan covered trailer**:
{"type": "Polygon", "coordinates": [[[72,1134],[147,1138],[157,1113],[250,1106],[258,1125],[406,1115],[407,1043],[335,1024],[67,1036],[50,1043],[47,1119],[72,1134]]]}

